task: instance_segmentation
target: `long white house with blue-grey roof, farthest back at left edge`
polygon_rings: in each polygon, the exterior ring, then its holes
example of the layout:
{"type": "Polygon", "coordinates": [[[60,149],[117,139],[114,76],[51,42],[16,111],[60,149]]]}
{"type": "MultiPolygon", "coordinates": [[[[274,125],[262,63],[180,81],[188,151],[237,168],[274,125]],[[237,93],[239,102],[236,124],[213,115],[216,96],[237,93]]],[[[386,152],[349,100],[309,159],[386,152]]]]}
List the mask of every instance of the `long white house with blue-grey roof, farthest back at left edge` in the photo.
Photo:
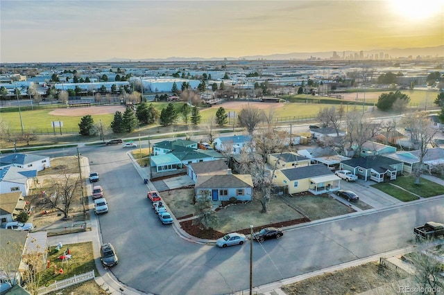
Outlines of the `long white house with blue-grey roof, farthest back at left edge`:
{"type": "Polygon", "coordinates": [[[49,157],[39,156],[37,154],[15,153],[0,158],[0,168],[6,168],[8,166],[42,171],[51,167],[51,161],[49,157]]]}

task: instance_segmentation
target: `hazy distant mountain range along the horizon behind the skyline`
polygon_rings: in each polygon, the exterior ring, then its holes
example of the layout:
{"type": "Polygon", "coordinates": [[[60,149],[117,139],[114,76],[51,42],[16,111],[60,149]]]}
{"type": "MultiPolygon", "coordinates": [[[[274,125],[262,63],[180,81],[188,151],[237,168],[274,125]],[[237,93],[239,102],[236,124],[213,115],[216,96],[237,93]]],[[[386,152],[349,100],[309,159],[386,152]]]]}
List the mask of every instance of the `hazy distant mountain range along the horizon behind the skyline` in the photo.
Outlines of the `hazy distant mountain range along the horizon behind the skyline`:
{"type": "MultiPolygon", "coordinates": [[[[284,54],[271,54],[271,55],[247,55],[241,57],[167,57],[167,58],[146,58],[142,60],[134,60],[131,58],[121,58],[114,57],[110,60],[102,60],[100,62],[191,62],[191,61],[215,61],[215,60],[307,60],[310,58],[321,58],[323,60],[330,59],[333,56],[334,51],[323,51],[323,52],[311,52],[311,53],[284,53],[284,54]]],[[[336,54],[340,58],[350,55],[359,55],[359,51],[336,51],[336,54]]],[[[420,48],[392,48],[392,49],[377,49],[370,51],[363,51],[364,57],[369,55],[378,55],[384,53],[391,58],[398,57],[413,57],[416,59],[417,56],[431,56],[431,57],[443,57],[444,56],[444,45],[434,46],[434,47],[420,47],[420,48]]]]}

